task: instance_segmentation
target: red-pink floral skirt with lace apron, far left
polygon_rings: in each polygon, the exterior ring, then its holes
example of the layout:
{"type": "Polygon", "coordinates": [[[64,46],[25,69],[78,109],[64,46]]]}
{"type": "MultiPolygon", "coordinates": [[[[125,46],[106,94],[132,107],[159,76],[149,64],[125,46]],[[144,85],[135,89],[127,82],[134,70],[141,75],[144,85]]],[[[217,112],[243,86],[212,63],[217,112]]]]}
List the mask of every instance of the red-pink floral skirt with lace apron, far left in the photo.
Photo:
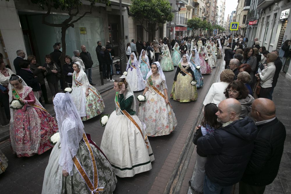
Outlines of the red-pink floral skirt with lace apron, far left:
{"type": "Polygon", "coordinates": [[[26,111],[14,110],[13,127],[10,126],[10,141],[13,141],[14,144],[13,151],[17,157],[42,154],[54,147],[49,138],[57,131],[58,124],[54,118],[39,108],[26,106],[26,111]],[[37,149],[27,149],[37,143],[39,145],[37,149]],[[26,149],[23,148],[24,146],[26,149]]]}

